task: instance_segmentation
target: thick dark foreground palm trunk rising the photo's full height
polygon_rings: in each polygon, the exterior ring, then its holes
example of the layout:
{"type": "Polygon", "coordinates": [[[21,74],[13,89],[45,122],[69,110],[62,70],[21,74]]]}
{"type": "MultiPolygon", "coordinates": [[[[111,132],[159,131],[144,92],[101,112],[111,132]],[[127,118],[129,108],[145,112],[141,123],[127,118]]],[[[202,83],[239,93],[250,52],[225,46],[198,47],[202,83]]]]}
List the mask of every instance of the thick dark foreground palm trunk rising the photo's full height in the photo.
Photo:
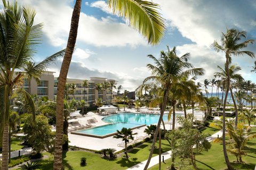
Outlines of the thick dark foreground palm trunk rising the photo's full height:
{"type": "Polygon", "coordinates": [[[67,80],[69,65],[70,65],[72,54],[74,52],[74,47],[76,44],[80,11],[81,11],[81,0],[76,0],[76,4],[74,6],[74,10],[71,18],[67,48],[66,48],[65,56],[63,58],[62,65],[61,65],[58,88],[57,88],[56,139],[55,139],[54,163],[53,163],[54,170],[60,170],[63,168],[62,167],[62,132],[63,132],[64,88],[67,80]]]}

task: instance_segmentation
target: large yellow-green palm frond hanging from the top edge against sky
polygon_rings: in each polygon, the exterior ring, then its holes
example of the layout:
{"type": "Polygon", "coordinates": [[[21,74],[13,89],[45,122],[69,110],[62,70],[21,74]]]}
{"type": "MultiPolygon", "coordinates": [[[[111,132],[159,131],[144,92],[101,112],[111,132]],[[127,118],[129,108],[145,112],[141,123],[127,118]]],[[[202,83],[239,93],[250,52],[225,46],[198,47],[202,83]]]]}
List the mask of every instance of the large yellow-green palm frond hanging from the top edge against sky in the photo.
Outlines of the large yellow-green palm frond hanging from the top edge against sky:
{"type": "Polygon", "coordinates": [[[159,43],[165,23],[158,4],[138,0],[108,0],[108,4],[115,14],[128,19],[129,25],[146,37],[149,44],[159,43]]]}

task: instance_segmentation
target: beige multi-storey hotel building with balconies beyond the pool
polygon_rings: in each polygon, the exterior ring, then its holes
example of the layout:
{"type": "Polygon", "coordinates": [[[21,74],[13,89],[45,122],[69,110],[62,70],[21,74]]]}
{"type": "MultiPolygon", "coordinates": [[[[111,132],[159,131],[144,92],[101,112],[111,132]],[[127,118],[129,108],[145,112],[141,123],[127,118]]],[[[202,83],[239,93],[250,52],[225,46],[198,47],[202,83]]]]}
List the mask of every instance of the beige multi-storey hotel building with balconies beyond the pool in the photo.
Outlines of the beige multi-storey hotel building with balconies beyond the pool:
{"type": "MultiPolygon", "coordinates": [[[[25,81],[25,84],[23,88],[25,88],[29,94],[31,95],[37,95],[37,96],[48,96],[49,99],[54,99],[57,95],[57,84],[58,80],[57,78],[54,78],[53,75],[54,72],[44,72],[40,78],[40,83],[37,84],[36,80],[31,79],[29,82],[25,81]]],[[[89,82],[89,88],[83,87],[83,81],[82,79],[67,79],[67,83],[74,83],[76,85],[76,88],[74,90],[74,96],[75,100],[82,100],[84,99],[87,103],[92,105],[95,103],[95,100],[97,100],[99,97],[105,100],[105,92],[103,90],[96,90],[95,84],[97,83],[103,83],[104,81],[115,81],[113,79],[107,79],[107,78],[98,78],[98,77],[91,77],[89,82]]],[[[69,94],[69,99],[74,98],[73,94],[69,94]]],[[[112,99],[114,99],[114,92],[112,99]]],[[[111,100],[111,90],[106,90],[106,103],[110,104],[111,100]]]]}

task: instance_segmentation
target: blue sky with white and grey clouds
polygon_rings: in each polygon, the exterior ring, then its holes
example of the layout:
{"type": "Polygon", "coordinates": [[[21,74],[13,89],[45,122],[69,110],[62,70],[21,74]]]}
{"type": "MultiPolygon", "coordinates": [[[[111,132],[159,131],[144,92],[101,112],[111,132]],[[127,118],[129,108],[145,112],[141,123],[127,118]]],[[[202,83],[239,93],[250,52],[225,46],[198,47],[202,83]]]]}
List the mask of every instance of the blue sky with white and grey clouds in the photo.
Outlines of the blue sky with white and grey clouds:
{"type": "MultiPolygon", "coordinates": [[[[106,1],[82,1],[76,49],[70,64],[68,78],[90,79],[104,77],[115,79],[118,86],[133,91],[150,76],[146,65],[153,63],[147,55],[159,57],[161,50],[176,46],[181,56],[190,53],[189,62],[205,69],[197,81],[213,79],[223,67],[225,55],[217,53],[210,45],[220,42],[221,32],[235,28],[247,31],[247,38],[256,39],[256,1],[250,0],[154,0],[161,7],[159,12],[166,22],[166,31],[161,43],[147,44],[137,31],[109,10],[106,1]]],[[[19,4],[35,8],[35,23],[44,23],[41,44],[37,47],[35,62],[63,49],[67,45],[72,0],[18,0],[19,4]]],[[[2,4],[1,4],[2,7],[2,4]]],[[[247,50],[256,54],[256,42],[247,50]]],[[[58,77],[61,59],[48,71],[58,77]]],[[[256,73],[251,72],[255,58],[234,56],[232,63],[242,68],[239,71],[245,80],[256,82],[256,73]]]]}

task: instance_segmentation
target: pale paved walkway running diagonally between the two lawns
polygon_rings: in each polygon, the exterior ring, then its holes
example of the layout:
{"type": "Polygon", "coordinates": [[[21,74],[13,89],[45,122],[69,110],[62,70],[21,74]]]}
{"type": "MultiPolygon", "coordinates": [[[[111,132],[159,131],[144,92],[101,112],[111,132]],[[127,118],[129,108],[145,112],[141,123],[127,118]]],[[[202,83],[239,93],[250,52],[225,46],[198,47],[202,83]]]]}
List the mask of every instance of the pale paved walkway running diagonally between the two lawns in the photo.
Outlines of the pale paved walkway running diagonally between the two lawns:
{"type": "MultiPolygon", "coordinates": [[[[219,135],[219,138],[222,137],[222,130],[220,130],[220,131],[217,132],[217,133],[214,133],[214,134],[211,135],[210,137],[207,137],[206,140],[208,140],[209,142],[211,142],[211,141],[213,141],[213,139],[218,138],[218,135],[219,135]]],[[[164,153],[162,154],[162,156],[164,156],[164,160],[166,160],[166,159],[171,158],[171,154],[172,154],[172,151],[169,150],[169,151],[167,151],[167,152],[164,152],[164,153]]],[[[147,160],[145,160],[145,161],[143,161],[143,162],[141,162],[141,163],[139,163],[139,164],[137,164],[137,165],[134,165],[134,166],[128,168],[127,170],[142,170],[142,169],[144,169],[146,163],[147,163],[147,160]]],[[[156,165],[156,164],[158,164],[158,163],[159,163],[159,156],[157,155],[157,156],[151,158],[150,164],[149,164],[148,168],[150,168],[150,167],[152,167],[152,166],[154,166],[154,165],[156,165]]]]}

